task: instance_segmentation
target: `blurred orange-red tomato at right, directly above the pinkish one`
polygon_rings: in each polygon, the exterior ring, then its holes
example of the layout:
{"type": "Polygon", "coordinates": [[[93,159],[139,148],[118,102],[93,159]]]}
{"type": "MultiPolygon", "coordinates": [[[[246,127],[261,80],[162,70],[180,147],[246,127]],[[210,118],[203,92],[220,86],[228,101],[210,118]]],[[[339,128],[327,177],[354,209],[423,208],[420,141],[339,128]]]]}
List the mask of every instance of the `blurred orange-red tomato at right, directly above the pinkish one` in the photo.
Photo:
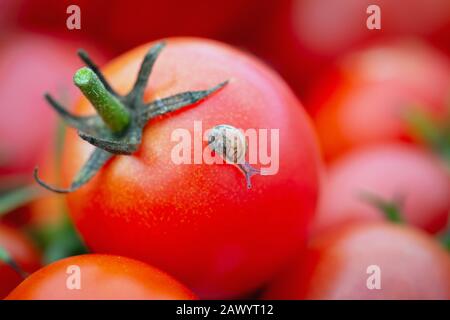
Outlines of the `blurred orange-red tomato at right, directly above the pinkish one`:
{"type": "Polygon", "coordinates": [[[344,58],[319,83],[310,106],[327,160],[361,145],[410,141],[405,116],[448,113],[450,63],[419,43],[392,43],[344,58]]]}

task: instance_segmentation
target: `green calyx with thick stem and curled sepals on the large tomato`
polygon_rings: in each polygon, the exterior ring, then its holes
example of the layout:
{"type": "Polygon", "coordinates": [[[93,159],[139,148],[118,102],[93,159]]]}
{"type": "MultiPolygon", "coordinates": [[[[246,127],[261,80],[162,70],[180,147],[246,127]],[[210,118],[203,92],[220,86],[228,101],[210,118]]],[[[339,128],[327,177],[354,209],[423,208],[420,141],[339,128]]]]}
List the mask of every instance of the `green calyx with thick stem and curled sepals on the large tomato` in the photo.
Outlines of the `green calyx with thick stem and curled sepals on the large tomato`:
{"type": "Polygon", "coordinates": [[[77,129],[79,137],[95,146],[95,149],[70,187],[66,189],[42,181],[36,168],[34,178],[42,187],[58,193],[77,190],[89,182],[115,155],[130,155],[136,152],[141,145],[144,127],[151,119],[198,103],[228,83],[224,81],[206,90],[186,91],[149,103],[144,102],[148,78],[164,46],[165,44],[160,42],[150,48],[141,64],[134,86],[127,95],[116,93],[88,54],[83,50],[78,52],[87,67],[76,72],[74,83],[91,102],[98,115],[74,115],[49,94],[46,94],[45,98],[66,124],[77,129]]]}

